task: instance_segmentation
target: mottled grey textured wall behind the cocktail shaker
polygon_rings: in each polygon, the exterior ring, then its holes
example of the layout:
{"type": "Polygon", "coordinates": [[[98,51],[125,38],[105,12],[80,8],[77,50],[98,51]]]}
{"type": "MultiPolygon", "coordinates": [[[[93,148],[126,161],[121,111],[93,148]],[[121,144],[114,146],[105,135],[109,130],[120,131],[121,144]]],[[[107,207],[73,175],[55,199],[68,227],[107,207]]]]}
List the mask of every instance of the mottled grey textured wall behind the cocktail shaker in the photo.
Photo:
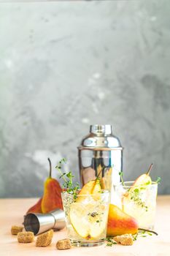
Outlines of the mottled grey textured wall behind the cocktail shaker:
{"type": "MultiPolygon", "coordinates": [[[[0,196],[42,195],[47,157],[112,124],[125,178],[170,193],[170,1],[0,4],[0,196]]],[[[53,171],[57,177],[57,172],[53,171]]]]}

